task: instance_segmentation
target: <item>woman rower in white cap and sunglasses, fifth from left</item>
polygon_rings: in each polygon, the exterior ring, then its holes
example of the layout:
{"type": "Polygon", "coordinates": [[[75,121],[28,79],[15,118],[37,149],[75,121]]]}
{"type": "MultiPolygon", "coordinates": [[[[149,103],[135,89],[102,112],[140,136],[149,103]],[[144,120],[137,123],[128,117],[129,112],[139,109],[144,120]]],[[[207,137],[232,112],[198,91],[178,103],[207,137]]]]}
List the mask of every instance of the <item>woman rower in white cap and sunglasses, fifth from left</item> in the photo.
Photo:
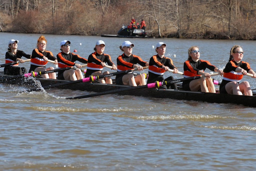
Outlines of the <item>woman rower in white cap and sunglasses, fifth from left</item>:
{"type": "MultiPolygon", "coordinates": [[[[148,62],[145,62],[141,59],[141,57],[132,54],[132,48],[134,44],[130,41],[125,41],[119,47],[124,53],[120,55],[117,60],[117,71],[125,71],[131,70],[133,68],[137,68],[139,71],[143,70],[142,66],[148,66],[148,62]],[[140,64],[140,65],[137,65],[140,64]]],[[[129,74],[118,74],[115,77],[115,83],[121,85],[146,85],[145,76],[137,75],[133,76],[133,73],[129,74]]]]}

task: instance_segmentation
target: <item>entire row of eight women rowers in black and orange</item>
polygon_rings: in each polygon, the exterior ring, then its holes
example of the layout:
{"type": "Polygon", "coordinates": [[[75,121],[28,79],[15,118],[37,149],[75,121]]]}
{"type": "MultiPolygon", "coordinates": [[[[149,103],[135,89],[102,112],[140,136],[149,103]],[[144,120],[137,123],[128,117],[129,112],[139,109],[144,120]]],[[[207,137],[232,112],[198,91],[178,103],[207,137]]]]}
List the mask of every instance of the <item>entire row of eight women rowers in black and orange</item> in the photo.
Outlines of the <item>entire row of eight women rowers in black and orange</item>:
{"type": "MultiPolygon", "coordinates": [[[[24,61],[21,59],[22,56],[26,58],[31,58],[30,70],[39,72],[45,70],[52,70],[53,67],[46,68],[47,60],[54,60],[55,64],[58,64],[59,68],[66,68],[71,66],[76,66],[81,68],[81,65],[75,63],[79,61],[81,63],[88,63],[87,72],[85,77],[97,76],[102,74],[108,74],[109,72],[103,72],[103,67],[108,65],[112,66],[113,70],[124,71],[137,68],[139,71],[143,70],[143,67],[149,66],[148,68],[148,79],[147,83],[154,83],[156,81],[163,82],[174,80],[173,76],[168,78],[163,77],[165,71],[172,69],[174,73],[178,73],[178,69],[173,65],[173,61],[170,58],[164,56],[166,51],[166,44],[159,42],[156,44],[157,54],[150,58],[149,62],[143,61],[139,56],[132,54],[132,49],[134,44],[125,41],[120,46],[123,54],[117,58],[117,67],[112,62],[110,55],[104,54],[105,43],[103,41],[97,41],[94,50],[88,57],[88,61],[85,58],[81,58],[79,55],[76,55],[70,52],[70,41],[61,41],[60,50],[57,58],[52,55],[50,51],[45,50],[47,40],[44,36],[40,36],[37,41],[37,47],[33,50],[32,55],[27,55],[23,51],[17,50],[16,40],[11,40],[8,44],[8,52],[6,52],[6,63],[13,61],[24,61]],[[138,65],[139,64],[139,65],[138,65]]],[[[243,58],[243,49],[239,45],[234,45],[230,50],[229,62],[226,64],[225,69],[222,71],[212,65],[209,61],[199,60],[200,50],[197,46],[192,46],[188,49],[188,60],[184,62],[184,77],[193,77],[204,75],[205,78],[200,78],[192,81],[185,81],[182,84],[184,90],[192,91],[204,91],[215,93],[215,86],[210,78],[210,74],[204,72],[206,68],[211,71],[218,72],[220,75],[223,75],[223,80],[220,85],[220,93],[228,94],[238,94],[238,95],[252,95],[250,85],[247,81],[240,82],[243,75],[247,73],[253,74],[253,78],[256,78],[255,72],[250,68],[249,63],[242,61],[243,58]]],[[[21,75],[26,72],[25,68],[19,68],[17,66],[5,67],[5,74],[12,75],[21,75]]],[[[50,73],[42,75],[45,78],[56,79],[55,73],[50,73]]],[[[82,79],[83,75],[81,70],[67,70],[58,73],[58,79],[65,80],[77,80],[82,79]]],[[[102,78],[101,83],[112,84],[111,78],[102,78]]],[[[115,78],[115,83],[120,85],[145,85],[146,80],[144,75],[134,76],[130,74],[118,74],[115,78]]],[[[176,84],[170,84],[169,86],[164,85],[164,88],[177,89],[176,84]]]]}

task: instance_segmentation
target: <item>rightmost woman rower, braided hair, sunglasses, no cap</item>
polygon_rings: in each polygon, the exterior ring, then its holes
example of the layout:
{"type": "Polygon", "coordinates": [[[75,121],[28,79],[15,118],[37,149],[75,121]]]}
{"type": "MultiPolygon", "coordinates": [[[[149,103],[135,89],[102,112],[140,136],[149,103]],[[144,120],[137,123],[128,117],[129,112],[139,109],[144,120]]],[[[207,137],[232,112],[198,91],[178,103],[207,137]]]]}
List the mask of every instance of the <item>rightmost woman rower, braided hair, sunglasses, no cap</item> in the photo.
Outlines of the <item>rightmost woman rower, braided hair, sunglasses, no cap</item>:
{"type": "Polygon", "coordinates": [[[239,45],[234,45],[230,50],[229,62],[223,70],[220,93],[252,96],[250,84],[247,81],[241,83],[240,81],[247,73],[253,74],[253,78],[256,78],[256,74],[249,63],[242,59],[243,49],[239,45]]]}

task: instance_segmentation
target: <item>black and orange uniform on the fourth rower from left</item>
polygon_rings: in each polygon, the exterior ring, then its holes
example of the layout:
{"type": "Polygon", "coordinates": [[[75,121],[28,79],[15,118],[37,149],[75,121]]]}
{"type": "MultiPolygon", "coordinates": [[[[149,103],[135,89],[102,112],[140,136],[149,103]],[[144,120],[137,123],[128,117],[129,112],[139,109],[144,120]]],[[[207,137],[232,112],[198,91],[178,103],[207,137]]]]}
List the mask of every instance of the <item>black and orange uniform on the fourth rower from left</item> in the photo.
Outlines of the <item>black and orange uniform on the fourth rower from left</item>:
{"type": "Polygon", "coordinates": [[[109,66],[114,65],[114,63],[111,61],[110,55],[108,54],[99,55],[97,52],[93,52],[88,57],[87,70],[85,73],[85,77],[91,76],[91,74],[94,72],[102,71],[103,67],[100,64],[101,62],[106,62],[108,63],[109,66]]]}

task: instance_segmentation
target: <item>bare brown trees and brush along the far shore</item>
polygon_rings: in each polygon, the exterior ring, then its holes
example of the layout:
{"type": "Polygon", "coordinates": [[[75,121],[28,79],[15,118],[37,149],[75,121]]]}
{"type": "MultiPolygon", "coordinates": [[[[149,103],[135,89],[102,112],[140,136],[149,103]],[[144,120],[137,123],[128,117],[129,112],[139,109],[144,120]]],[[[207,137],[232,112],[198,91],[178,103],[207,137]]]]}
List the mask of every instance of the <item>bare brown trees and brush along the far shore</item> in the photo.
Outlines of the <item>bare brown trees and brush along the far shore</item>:
{"type": "Polygon", "coordinates": [[[117,34],[131,18],[155,37],[256,40],[256,0],[0,0],[0,30],[117,34]]]}

